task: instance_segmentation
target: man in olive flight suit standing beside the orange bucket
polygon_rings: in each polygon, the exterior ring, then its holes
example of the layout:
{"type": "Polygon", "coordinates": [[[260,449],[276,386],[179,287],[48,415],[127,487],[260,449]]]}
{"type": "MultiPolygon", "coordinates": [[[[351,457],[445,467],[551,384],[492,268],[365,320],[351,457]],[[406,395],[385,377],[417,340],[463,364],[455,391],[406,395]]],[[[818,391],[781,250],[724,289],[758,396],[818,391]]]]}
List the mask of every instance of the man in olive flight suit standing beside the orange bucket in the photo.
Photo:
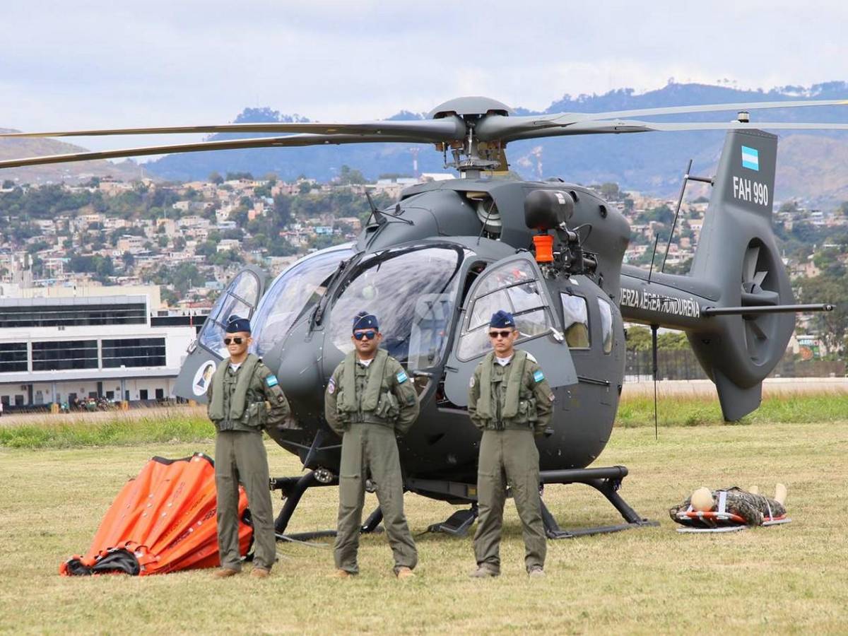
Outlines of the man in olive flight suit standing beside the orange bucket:
{"type": "Polygon", "coordinates": [[[207,412],[215,424],[215,488],[218,491],[216,577],[242,570],[238,551],[238,483],[248,494],[254,525],[254,569],[265,578],[276,559],[274,516],[269,488],[268,455],[262,429],[282,423],[288,401],[276,376],[254,354],[248,354],[250,322],[237,315],[226,325],[224,344],[230,357],[221,360],[206,391],[207,412]]]}

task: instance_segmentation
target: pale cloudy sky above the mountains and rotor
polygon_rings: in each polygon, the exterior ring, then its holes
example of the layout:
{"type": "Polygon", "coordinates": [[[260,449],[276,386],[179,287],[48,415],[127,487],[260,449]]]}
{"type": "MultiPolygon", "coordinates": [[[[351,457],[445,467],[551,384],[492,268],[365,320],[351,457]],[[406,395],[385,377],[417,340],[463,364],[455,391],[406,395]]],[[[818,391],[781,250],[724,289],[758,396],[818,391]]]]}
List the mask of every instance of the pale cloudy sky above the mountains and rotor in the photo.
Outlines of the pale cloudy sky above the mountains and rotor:
{"type": "Polygon", "coordinates": [[[4,0],[0,127],[220,124],[255,106],[374,120],[462,95],[546,109],[671,78],[810,86],[848,80],[845,24],[848,3],[817,0],[4,0]]]}

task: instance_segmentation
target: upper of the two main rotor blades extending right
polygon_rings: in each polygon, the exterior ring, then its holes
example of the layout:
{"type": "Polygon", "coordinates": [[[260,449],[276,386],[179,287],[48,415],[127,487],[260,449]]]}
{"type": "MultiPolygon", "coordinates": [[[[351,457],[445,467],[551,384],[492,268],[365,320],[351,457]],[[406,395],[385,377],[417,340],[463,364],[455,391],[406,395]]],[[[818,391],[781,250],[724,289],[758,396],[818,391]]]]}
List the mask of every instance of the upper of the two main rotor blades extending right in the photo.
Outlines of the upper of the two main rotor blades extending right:
{"type": "MultiPolygon", "coordinates": [[[[663,114],[714,113],[722,111],[742,111],[760,109],[795,109],[809,106],[845,106],[848,99],[818,99],[796,100],[786,102],[739,102],[713,103],[698,106],[670,106],[656,109],[616,110],[605,113],[555,113],[542,115],[527,115],[521,117],[505,117],[490,115],[477,125],[477,136],[483,140],[503,139],[510,141],[529,131],[551,130],[561,126],[573,126],[577,123],[599,120],[617,120],[631,117],[647,117],[663,114]]],[[[539,135],[535,137],[544,137],[539,135]]]]}

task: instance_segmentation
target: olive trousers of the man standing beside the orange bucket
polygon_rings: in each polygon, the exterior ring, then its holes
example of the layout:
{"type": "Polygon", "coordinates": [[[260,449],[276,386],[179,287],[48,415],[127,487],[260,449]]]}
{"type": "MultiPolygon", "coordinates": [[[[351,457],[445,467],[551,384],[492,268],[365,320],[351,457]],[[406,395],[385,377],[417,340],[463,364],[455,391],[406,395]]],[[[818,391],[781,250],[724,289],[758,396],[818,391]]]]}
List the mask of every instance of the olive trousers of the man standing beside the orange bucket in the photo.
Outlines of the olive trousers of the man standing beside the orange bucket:
{"type": "Polygon", "coordinates": [[[268,454],[262,433],[220,431],[215,437],[215,488],[218,491],[220,566],[241,570],[238,553],[238,484],[248,495],[254,524],[254,567],[271,570],[276,560],[268,454]]]}

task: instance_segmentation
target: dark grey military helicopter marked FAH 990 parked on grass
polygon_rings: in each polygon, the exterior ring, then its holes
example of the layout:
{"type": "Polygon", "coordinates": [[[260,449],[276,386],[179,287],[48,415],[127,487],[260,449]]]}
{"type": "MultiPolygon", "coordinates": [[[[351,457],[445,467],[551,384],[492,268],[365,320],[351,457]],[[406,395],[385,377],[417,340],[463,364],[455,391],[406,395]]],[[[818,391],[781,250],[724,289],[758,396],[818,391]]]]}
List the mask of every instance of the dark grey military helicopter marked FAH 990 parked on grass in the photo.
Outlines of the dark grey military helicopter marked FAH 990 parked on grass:
{"type": "MultiPolygon", "coordinates": [[[[254,351],[276,371],[294,421],[268,431],[302,460],[298,477],[271,480],[286,503],[276,519],[285,533],[308,488],[338,483],[340,444],[326,426],[326,382],[351,349],[350,316],[376,314],[383,343],[414,378],[421,416],[399,440],[405,488],[470,508],[432,530],[461,534],[476,516],[480,433],[466,414],[471,374],[488,349],[488,320],[510,310],[517,346],[538,360],[555,393],[554,422],[539,443],[541,481],[584,483],[616,507],[624,523],[564,530],[543,507],[551,538],[611,532],[649,522],[616,492],[624,466],[587,467],[610,438],[624,381],[623,321],[683,330],[722,414],[755,410],[762,380],[784,354],[796,311],[772,230],[777,137],[767,129],[848,129],[848,124],[750,123],[751,109],[834,106],[848,101],[726,103],[608,113],[513,116],[491,98],[458,98],[427,120],[354,124],[231,124],[95,131],[10,133],[3,137],[75,137],[184,132],[287,133],[170,146],[85,152],[0,162],[0,169],[83,159],[361,142],[430,142],[460,178],[407,188],[377,209],[354,243],[298,260],[272,281],[248,266],[220,294],[177,380],[184,398],[204,400],[215,365],[226,356],[226,320],[253,325],[254,351]],[[636,120],[662,114],[734,111],[715,123],[636,120]],[[711,198],[687,276],[622,265],[630,227],[595,192],[565,181],[500,178],[507,143],[536,137],[647,131],[727,130],[717,174],[689,175],[711,185],[711,198]],[[452,158],[449,161],[449,155],[452,158]]],[[[690,163],[691,166],[691,163],[690,163]]],[[[681,200],[683,189],[681,190],[681,200]]],[[[679,205],[678,205],[679,209],[679,205]]],[[[675,219],[676,220],[676,219],[675,219]]],[[[544,504],[543,504],[544,506],[544,504]]],[[[363,531],[377,527],[379,508],[363,531]]]]}

